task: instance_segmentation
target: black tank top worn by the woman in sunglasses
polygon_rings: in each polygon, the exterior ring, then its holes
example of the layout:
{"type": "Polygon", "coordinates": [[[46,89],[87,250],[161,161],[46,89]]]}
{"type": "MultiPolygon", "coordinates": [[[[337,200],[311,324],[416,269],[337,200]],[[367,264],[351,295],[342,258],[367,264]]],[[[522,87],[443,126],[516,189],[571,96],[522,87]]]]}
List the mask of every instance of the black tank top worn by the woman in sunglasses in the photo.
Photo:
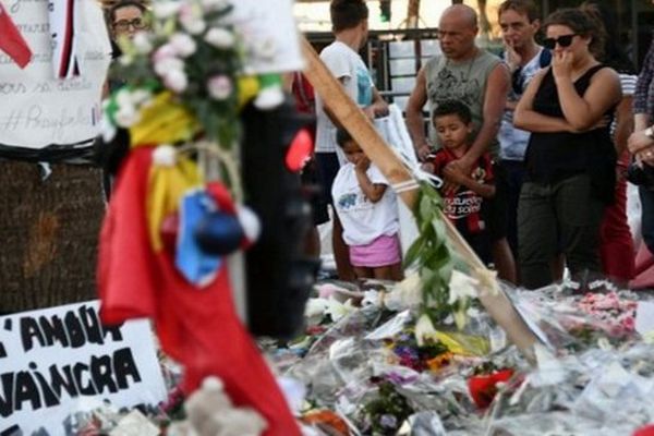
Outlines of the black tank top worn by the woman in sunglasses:
{"type": "MultiPolygon", "coordinates": [[[[591,77],[605,65],[590,68],[574,82],[577,94],[583,96],[591,77]]],[[[552,68],[534,96],[533,110],[548,117],[565,118],[552,68]]],[[[606,114],[613,118],[615,107],[606,114]]],[[[610,138],[609,125],[583,133],[534,132],[526,148],[528,180],[556,183],[572,175],[591,175],[595,194],[610,201],[615,186],[616,152],[610,138]]]]}

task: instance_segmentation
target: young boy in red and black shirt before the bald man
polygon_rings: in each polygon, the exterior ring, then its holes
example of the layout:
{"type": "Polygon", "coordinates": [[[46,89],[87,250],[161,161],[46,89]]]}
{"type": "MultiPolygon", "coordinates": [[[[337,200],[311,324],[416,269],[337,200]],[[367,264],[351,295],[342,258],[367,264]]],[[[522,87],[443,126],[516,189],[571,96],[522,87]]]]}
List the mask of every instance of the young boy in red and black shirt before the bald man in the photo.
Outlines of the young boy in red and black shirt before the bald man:
{"type": "Polygon", "coordinates": [[[446,169],[449,162],[460,159],[470,148],[472,116],[468,106],[447,100],[438,105],[432,117],[443,148],[433,155],[424,169],[444,180],[445,215],[487,264],[491,262],[491,239],[486,230],[486,208],[488,199],[495,196],[491,155],[484,154],[470,174],[452,167],[446,169]]]}

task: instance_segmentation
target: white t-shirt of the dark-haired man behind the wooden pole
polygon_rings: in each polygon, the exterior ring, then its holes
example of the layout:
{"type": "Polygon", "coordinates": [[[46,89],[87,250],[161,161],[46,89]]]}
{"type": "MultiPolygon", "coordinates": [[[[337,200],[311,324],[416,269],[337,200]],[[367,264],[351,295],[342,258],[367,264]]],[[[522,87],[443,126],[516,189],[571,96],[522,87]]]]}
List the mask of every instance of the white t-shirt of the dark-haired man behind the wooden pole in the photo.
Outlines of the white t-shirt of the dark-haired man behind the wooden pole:
{"type": "MultiPolygon", "coordinates": [[[[334,41],[320,51],[320,59],[331,74],[340,80],[346,93],[360,107],[373,102],[373,80],[361,56],[341,41],[334,41]]],[[[336,126],[325,113],[323,99],[316,93],[316,153],[335,153],[336,126]]]]}

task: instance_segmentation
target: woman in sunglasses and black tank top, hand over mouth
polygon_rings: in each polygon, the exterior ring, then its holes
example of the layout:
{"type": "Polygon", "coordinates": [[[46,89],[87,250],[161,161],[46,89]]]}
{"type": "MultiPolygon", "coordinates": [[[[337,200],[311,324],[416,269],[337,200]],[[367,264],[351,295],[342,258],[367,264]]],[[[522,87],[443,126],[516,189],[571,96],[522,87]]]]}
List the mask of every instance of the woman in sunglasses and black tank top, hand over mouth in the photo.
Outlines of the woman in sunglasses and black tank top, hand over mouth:
{"type": "Polygon", "coordinates": [[[615,191],[609,123],[621,98],[618,74],[593,56],[603,32],[588,14],[561,9],[544,28],[552,66],[532,80],[514,114],[516,126],[532,132],[518,208],[522,279],[531,289],[560,279],[561,253],[573,278],[602,271],[600,226],[615,191]]]}

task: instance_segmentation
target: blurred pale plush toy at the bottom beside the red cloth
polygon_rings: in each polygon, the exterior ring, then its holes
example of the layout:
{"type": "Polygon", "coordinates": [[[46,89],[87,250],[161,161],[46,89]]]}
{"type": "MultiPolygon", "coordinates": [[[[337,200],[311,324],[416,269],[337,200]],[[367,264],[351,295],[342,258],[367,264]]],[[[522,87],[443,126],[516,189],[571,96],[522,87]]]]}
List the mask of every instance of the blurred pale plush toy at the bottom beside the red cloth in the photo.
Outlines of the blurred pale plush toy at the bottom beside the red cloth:
{"type": "Polygon", "coordinates": [[[250,408],[234,408],[215,376],[203,380],[202,387],[184,403],[187,420],[174,423],[169,436],[255,436],[267,427],[266,421],[250,408]]]}

